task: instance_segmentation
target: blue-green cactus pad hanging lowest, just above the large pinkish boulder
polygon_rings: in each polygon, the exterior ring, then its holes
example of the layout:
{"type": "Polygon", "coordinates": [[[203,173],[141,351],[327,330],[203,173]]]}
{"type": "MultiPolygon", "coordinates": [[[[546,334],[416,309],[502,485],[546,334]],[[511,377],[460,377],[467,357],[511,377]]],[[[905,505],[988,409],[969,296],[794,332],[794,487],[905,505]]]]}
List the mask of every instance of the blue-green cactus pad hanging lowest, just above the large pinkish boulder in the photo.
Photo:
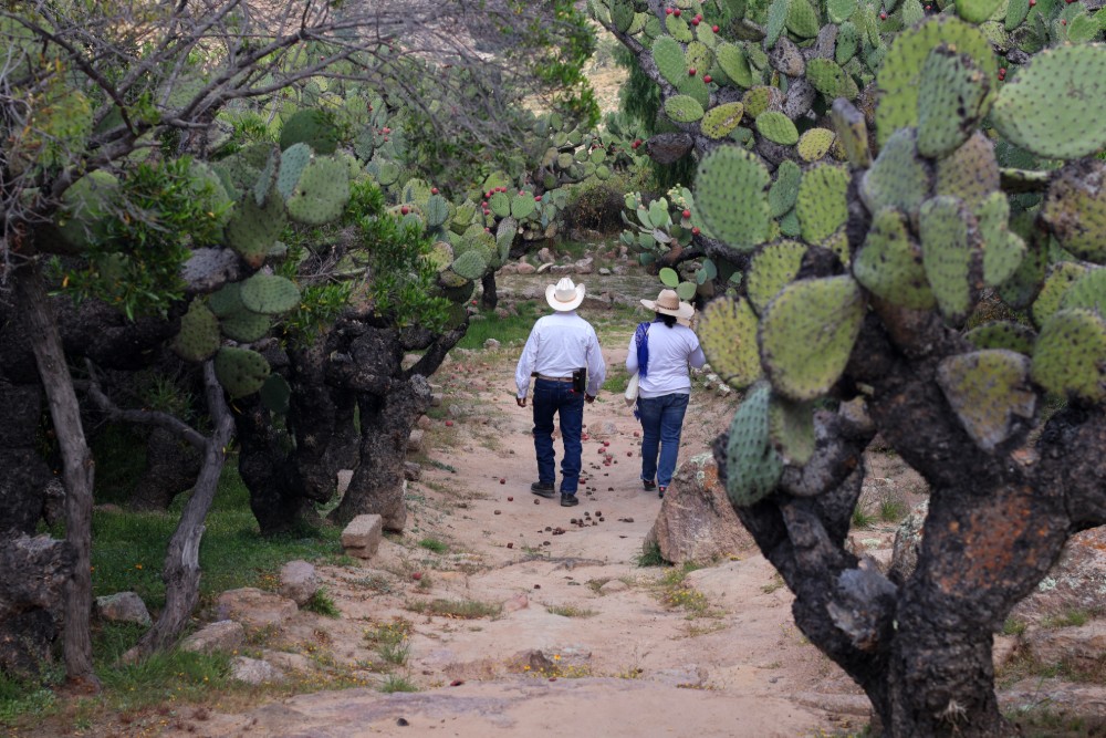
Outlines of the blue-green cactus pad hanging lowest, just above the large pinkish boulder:
{"type": "Polygon", "coordinates": [[[771,395],[766,383],[758,383],[745,395],[730,423],[726,492],[734,507],[749,507],[771,495],[783,474],[783,461],[772,448],[769,436],[771,395]]]}

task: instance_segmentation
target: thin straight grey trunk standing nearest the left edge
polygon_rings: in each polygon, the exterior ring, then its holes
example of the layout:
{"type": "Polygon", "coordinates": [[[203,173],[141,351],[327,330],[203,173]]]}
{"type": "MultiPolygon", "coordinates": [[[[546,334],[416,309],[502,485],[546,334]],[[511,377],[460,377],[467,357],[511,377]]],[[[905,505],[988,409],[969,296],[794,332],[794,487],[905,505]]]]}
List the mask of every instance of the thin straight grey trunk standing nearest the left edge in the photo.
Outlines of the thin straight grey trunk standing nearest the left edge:
{"type": "Polygon", "coordinates": [[[74,554],[73,575],[65,586],[65,679],[79,692],[98,692],[92,665],[92,485],[95,464],[81,425],[81,407],[65,364],[62,340],[50,310],[39,263],[15,273],[17,300],[27,319],[28,335],[62,456],[65,484],[65,540],[74,554]]]}

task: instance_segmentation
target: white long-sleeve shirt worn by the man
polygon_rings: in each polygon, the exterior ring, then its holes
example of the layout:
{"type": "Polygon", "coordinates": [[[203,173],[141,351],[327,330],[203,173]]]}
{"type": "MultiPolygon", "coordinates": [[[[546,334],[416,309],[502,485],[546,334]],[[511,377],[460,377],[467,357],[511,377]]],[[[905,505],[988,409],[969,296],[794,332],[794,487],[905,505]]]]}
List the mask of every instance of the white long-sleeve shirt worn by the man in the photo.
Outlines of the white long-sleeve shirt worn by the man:
{"type": "Polygon", "coordinates": [[[599,340],[592,324],[575,311],[557,312],[539,318],[530,331],[526,345],[514,371],[514,384],[519,397],[530,391],[530,375],[533,372],[545,376],[566,377],[578,368],[587,368],[588,395],[599,394],[607,367],[603,362],[599,340]]]}

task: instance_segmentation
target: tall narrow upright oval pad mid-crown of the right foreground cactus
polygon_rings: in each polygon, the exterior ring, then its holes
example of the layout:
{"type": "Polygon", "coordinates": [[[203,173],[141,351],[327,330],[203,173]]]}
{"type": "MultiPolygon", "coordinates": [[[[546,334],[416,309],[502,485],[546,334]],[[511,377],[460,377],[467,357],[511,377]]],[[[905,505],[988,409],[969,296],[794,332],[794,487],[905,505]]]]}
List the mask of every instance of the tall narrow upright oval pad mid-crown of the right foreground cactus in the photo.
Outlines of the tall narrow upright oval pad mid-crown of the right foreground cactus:
{"type": "Polygon", "coordinates": [[[949,196],[926,200],[919,217],[921,262],[941,314],[959,324],[968,318],[982,281],[975,218],[949,196]]]}

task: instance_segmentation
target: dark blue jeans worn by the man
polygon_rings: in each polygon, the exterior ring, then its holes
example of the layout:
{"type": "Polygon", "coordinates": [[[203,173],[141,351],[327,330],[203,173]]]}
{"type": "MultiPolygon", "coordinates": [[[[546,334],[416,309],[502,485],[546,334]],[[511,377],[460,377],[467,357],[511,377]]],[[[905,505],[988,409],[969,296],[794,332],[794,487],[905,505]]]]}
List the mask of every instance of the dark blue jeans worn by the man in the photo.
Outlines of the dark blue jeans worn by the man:
{"type": "Polygon", "coordinates": [[[552,485],[554,477],[553,416],[561,416],[564,459],[561,461],[561,493],[575,495],[580,484],[584,428],[584,395],[572,391],[571,382],[534,380],[534,450],[538,451],[538,480],[552,485]]]}

